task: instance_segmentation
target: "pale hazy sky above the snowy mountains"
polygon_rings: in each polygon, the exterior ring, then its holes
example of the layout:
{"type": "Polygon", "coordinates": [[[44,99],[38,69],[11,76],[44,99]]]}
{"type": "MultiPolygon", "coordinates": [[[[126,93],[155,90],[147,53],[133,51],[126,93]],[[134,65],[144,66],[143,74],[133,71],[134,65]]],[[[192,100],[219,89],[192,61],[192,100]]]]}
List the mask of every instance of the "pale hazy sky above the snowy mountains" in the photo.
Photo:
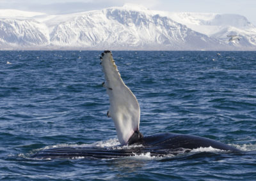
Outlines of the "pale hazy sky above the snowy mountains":
{"type": "Polygon", "coordinates": [[[71,13],[100,10],[125,3],[140,4],[150,10],[236,13],[256,25],[255,0],[0,0],[1,9],[71,13]]]}

